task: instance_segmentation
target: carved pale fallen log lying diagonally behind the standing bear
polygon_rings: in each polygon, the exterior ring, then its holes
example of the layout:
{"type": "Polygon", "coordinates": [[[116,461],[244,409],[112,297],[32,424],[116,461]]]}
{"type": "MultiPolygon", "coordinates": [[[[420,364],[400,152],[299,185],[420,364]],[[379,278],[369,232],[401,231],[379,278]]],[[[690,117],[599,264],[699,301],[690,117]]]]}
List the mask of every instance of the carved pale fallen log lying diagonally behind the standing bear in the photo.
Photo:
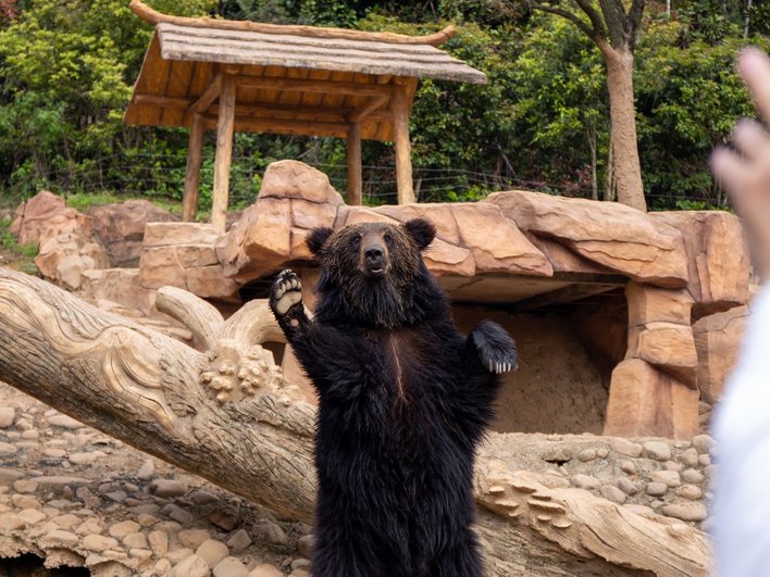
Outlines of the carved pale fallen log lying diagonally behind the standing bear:
{"type": "MultiPolygon", "coordinates": [[[[265,302],[227,321],[179,289],[161,289],[157,304],[206,352],[0,268],[0,379],[284,517],[311,522],[314,410],[260,346],[282,338],[265,302]]],[[[476,461],[476,529],[489,575],[708,574],[698,529],[548,488],[516,471],[508,447],[505,435],[490,434],[476,461]]]]}

